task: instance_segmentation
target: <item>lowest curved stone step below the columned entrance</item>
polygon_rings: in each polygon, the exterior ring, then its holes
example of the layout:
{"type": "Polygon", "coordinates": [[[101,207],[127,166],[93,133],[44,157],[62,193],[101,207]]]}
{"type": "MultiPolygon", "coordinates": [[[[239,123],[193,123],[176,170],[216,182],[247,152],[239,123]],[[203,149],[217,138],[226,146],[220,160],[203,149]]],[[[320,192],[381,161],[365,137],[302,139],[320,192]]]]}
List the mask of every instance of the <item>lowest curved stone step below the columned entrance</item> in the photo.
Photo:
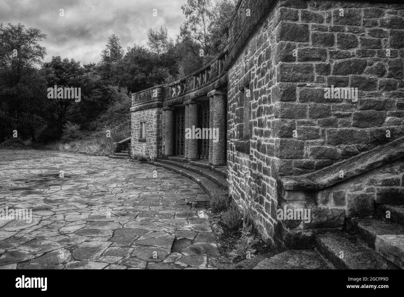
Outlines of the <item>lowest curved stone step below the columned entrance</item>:
{"type": "Polygon", "coordinates": [[[174,171],[176,173],[179,173],[179,174],[191,179],[192,181],[195,181],[198,185],[200,185],[200,187],[202,187],[202,189],[209,195],[209,197],[212,197],[213,195],[227,195],[225,190],[223,190],[219,185],[217,185],[210,179],[203,177],[202,175],[200,175],[198,173],[189,171],[187,169],[183,169],[179,166],[162,163],[162,162],[158,162],[158,161],[148,161],[147,163],[174,171]]]}

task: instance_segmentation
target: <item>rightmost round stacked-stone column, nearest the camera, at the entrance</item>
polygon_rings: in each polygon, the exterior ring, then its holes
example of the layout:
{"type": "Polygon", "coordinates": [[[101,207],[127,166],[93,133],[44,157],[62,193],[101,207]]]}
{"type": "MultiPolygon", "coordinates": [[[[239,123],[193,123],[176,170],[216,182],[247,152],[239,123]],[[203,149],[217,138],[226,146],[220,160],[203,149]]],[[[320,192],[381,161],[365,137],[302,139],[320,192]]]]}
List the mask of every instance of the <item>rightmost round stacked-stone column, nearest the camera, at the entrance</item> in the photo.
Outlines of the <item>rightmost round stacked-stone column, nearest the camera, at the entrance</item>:
{"type": "Polygon", "coordinates": [[[222,166],[226,160],[226,95],[222,90],[208,93],[209,128],[212,128],[212,135],[217,137],[217,141],[209,139],[209,163],[213,166],[222,166]],[[218,131],[216,135],[214,131],[218,131]]]}

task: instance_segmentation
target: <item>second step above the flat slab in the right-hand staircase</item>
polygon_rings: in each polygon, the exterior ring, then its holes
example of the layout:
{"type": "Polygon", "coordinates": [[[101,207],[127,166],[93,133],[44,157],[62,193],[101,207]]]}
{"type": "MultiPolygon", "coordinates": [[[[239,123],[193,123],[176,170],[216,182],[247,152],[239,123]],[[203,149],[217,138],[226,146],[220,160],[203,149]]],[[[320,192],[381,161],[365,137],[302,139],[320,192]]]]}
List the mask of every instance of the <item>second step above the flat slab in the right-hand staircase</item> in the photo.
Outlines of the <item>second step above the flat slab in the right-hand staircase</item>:
{"type": "Polygon", "coordinates": [[[372,249],[378,235],[404,235],[404,227],[377,219],[353,219],[347,224],[372,249]]]}

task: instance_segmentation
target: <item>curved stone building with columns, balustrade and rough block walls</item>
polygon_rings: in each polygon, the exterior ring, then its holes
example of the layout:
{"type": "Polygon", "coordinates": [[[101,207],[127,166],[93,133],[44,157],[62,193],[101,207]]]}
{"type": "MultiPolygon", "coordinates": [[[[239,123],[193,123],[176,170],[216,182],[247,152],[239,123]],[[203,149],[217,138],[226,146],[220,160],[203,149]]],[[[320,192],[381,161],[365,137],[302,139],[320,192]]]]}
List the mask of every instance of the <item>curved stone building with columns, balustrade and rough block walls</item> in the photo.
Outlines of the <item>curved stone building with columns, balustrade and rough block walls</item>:
{"type": "Polygon", "coordinates": [[[378,213],[404,217],[402,1],[240,0],[228,41],[197,72],[132,94],[131,156],[227,191],[281,250],[332,254],[345,226],[389,259],[372,230],[378,213]],[[193,126],[208,137],[186,137],[193,126]]]}

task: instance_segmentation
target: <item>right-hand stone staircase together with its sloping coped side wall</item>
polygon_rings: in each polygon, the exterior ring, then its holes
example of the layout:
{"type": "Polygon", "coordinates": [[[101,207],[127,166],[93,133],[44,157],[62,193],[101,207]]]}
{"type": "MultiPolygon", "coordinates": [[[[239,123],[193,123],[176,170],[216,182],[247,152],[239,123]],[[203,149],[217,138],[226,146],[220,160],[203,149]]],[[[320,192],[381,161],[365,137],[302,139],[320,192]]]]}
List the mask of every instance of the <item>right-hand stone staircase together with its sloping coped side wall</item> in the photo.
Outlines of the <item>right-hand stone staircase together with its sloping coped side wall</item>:
{"type": "Polygon", "coordinates": [[[278,186],[311,221],[278,221],[284,252],[232,269],[404,269],[404,137],[278,186]]]}

